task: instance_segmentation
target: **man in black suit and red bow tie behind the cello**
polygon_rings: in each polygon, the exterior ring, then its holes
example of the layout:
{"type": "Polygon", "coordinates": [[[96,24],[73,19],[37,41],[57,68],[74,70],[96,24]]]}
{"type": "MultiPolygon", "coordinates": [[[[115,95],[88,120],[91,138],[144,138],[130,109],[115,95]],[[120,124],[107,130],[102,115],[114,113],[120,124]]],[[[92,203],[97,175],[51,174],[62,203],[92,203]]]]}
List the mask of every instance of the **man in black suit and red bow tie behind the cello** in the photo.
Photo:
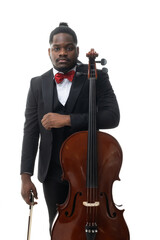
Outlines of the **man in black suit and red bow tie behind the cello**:
{"type": "MultiPolygon", "coordinates": [[[[53,69],[31,80],[27,98],[21,193],[27,204],[30,190],[37,198],[31,176],[40,138],[38,179],[43,183],[51,226],[56,204],[64,202],[68,193],[68,183],[61,180],[60,147],[71,134],[88,129],[89,81],[88,67],[78,61],[77,36],[66,23],[51,32],[49,43],[53,69]]],[[[116,127],[119,108],[108,75],[98,71],[96,83],[97,128],[116,127]]]]}

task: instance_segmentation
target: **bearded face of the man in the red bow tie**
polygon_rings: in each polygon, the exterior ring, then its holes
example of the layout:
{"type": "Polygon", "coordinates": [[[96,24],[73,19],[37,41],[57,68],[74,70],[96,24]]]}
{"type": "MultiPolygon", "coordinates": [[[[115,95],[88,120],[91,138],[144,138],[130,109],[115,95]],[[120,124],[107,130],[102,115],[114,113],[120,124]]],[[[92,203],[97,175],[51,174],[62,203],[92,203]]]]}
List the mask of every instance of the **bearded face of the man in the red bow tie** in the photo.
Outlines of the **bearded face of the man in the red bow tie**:
{"type": "Polygon", "coordinates": [[[48,54],[55,69],[60,72],[67,72],[76,65],[79,48],[73,42],[72,35],[58,33],[53,36],[48,54]]]}

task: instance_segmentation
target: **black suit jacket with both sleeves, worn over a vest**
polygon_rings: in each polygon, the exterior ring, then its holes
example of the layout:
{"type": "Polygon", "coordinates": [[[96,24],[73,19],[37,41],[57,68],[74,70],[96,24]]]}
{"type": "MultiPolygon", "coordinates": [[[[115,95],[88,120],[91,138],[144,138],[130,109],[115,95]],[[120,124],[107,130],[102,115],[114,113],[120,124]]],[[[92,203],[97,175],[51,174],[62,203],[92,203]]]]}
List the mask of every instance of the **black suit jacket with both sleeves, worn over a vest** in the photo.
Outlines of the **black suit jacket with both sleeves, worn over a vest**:
{"type": "MultiPolygon", "coordinates": [[[[87,66],[77,67],[77,72],[87,73],[87,66]]],[[[35,158],[39,146],[38,179],[43,182],[47,175],[52,153],[52,131],[41,124],[44,114],[52,112],[54,93],[53,69],[42,76],[31,79],[25,111],[24,137],[21,158],[21,173],[33,175],[35,158]],[[39,144],[38,144],[39,143],[39,144]]],[[[116,96],[109,82],[108,74],[98,70],[97,84],[97,127],[107,129],[119,123],[119,108],[116,96]]],[[[71,116],[70,134],[87,130],[89,81],[87,75],[76,74],[69,98],[67,114],[71,116]]]]}

